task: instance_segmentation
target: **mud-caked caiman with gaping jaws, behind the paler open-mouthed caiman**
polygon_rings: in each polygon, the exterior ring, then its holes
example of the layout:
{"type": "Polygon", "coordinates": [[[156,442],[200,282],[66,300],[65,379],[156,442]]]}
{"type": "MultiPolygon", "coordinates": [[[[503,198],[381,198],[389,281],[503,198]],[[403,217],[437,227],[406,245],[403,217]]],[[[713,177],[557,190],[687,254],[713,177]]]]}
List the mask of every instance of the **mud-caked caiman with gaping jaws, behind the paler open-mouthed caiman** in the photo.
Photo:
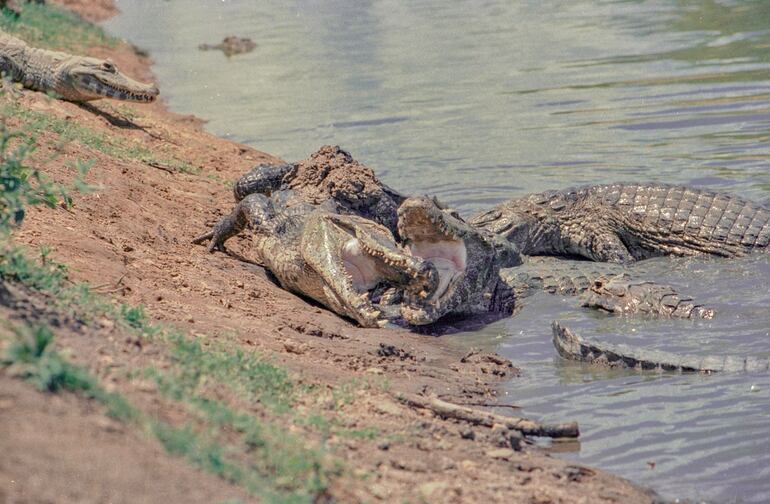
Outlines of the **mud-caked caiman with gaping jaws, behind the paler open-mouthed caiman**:
{"type": "Polygon", "coordinates": [[[290,193],[305,204],[356,215],[387,227],[415,258],[436,268],[436,291],[422,302],[404,303],[412,325],[447,314],[510,315],[514,298],[499,270],[521,264],[514,245],[469,226],[433,198],[407,198],[339,147],[324,146],[295,164],[260,165],[234,185],[236,201],[250,194],[280,198],[290,193]]]}

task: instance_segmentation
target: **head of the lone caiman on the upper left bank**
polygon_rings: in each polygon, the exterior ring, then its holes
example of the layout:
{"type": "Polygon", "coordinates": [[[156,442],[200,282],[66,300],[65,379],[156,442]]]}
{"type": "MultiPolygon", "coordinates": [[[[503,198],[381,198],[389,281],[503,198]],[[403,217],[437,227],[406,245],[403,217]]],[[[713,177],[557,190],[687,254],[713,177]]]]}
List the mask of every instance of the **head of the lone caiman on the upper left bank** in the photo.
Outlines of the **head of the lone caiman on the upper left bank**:
{"type": "Polygon", "coordinates": [[[66,69],[72,96],[63,92],[64,98],[78,101],[114,98],[116,100],[149,103],[160,91],[152,84],[137,82],[120,73],[110,60],[80,58],[66,69]]]}

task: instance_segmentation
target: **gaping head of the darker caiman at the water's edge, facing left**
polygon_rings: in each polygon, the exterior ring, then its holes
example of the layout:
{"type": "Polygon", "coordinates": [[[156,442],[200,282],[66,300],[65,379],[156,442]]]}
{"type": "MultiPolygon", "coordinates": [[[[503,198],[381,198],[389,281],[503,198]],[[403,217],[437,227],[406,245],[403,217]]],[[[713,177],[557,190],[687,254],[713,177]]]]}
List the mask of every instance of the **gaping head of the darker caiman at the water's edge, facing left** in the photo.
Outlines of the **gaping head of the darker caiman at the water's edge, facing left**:
{"type": "Polygon", "coordinates": [[[438,201],[413,197],[398,209],[398,232],[409,252],[438,271],[438,286],[423,302],[405,303],[411,324],[449,313],[510,312],[513,297],[500,281],[501,267],[521,264],[516,247],[466,223],[438,201]]]}

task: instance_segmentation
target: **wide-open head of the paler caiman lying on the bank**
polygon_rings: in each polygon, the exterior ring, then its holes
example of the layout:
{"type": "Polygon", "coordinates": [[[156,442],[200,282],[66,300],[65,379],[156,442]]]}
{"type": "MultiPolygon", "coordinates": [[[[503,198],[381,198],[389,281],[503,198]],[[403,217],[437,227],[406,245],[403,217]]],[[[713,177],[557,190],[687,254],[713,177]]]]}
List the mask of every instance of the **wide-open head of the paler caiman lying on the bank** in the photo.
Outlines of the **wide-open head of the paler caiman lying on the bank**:
{"type": "Polygon", "coordinates": [[[320,277],[304,292],[365,327],[419,310],[439,284],[436,266],[402,249],[384,226],[353,215],[314,212],[305,222],[300,254],[320,277]]]}

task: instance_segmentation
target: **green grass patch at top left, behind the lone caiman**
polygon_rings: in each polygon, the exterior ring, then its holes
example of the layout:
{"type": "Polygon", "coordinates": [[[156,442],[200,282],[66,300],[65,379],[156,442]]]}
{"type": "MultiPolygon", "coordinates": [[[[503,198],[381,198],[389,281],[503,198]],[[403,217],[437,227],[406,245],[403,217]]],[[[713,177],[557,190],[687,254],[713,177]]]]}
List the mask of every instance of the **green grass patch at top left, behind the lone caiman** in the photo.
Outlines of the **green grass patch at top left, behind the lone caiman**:
{"type": "Polygon", "coordinates": [[[115,47],[118,41],[104,30],[55,5],[17,2],[21,15],[0,11],[0,30],[29,45],[44,49],[81,52],[93,46],[115,47]]]}

